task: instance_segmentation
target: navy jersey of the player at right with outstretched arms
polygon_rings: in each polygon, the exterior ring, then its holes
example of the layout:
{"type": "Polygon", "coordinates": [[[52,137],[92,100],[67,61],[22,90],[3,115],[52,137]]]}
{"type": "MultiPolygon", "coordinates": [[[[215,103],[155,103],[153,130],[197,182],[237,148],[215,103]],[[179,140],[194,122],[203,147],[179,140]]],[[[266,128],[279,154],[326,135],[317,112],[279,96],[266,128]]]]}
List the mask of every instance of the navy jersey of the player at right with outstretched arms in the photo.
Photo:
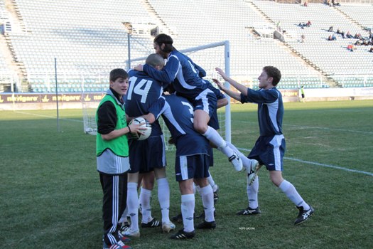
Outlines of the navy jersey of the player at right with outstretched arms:
{"type": "Polygon", "coordinates": [[[241,102],[258,104],[258,120],[261,136],[282,134],[283,102],[277,88],[252,90],[247,88],[247,96],[241,94],[241,102]]]}

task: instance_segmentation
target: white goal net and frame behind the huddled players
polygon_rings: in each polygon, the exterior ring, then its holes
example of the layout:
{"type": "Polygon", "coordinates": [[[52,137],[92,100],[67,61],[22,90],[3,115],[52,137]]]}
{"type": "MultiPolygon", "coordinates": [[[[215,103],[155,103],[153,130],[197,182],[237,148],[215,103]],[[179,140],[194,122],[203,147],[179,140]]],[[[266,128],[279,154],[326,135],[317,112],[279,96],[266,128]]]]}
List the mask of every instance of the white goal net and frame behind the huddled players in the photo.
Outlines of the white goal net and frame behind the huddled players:
{"type": "MultiPolygon", "coordinates": [[[[217,75],[215,68],[222,68],[225,70],[227,75],[229,75],[229,41],[222,41],[218,43],[210,43],[203,46],[197,46],[193,48],[187,48],[180,50],[181,53],[184,53],[185,55],[188,55],[189,58],[193,60],[194,63],[200,65],[203,69],[206,71],[205,80],[209,80],[212,85],[215,85],[215,83],[212,82],[212,78],[218,78],[220,81],[222,78],[220,75],[217,75]]],[[[124,65],[122,68],[128,68],[129,65],[137,65],[137,64],[144,64],[146,60],[146,57],[142,58],[134,58],[130,60],[130,63],[128,61],[126,62],[126,65],[124,63],[119,63],[116,66],[113,66],[113,68],[119,68],[119,65],[124,65]]],[[[87,75],[86,77],[92,77],[90,75],[87,75]]],[[[97,90],[92,88],[92,85],[97,84],[87,84],[85,83],[83,85],[83,93],[82,93],[82,110],[83,110],[83,122],[84,122],[84,131],[87,134],[97,134],[97,124],[95,121],[95,114],[97,105],[99,104],[99,101],[102,100],[102,97],[104,96],[109,83],[109,70],[103,70],[102,73],[100,73],[100,81],[99,81],[99,88],[100,91],[94,91],[97,90]],[[103,83],[104,82],[104,83],[103,83]]],[[[87,82],[87,80],[83,80],[83,82],[87,82]]],[[[217,87],[215,85],[215,87],[217,87]]],[[[228,96],[227,96],[228,97],[228,96]]],[[[228,97],[229,100],[229,97],[228,97]]],[[[220,124],[220,134],[222,137],[225,138],[228,142],[230,142],[231,134],[230,134],[230,100],[228,101],[229,104],[225,107],[222,107],[217,110],[217,116],[219,119],[220,124]]],[[[159,120],[161,127],[163,128],[163,134],[165,138],[165,145],[166,149],[171,150],[173,149],[172,144],[168,144],[168,139],[171,137],[170,133],[168,132],[168,129],[166,127],[166,124],[164,124],[163,120],[160,118],[159,120]]]]}

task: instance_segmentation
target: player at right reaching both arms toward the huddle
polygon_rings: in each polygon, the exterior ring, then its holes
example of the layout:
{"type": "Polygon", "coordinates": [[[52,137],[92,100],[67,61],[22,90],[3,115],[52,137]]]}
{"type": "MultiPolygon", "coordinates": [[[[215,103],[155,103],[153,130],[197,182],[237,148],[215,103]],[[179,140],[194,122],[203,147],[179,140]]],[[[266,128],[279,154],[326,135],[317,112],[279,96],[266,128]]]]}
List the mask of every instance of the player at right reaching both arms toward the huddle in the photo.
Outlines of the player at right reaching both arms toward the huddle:
{"type": "MultiPolygon", "coordinates": [[[[295,225],[306,221],[314,212],[312,206],[303,200],[296,188],[283,179],[283,155],[286,144],[282,133],[283,101],[282,95],[276,85],[281,80],[281,72],[273,66],[263,68],[259,75],[259,90],[252,90],[229,78],[222,69],[216,68],[217,73],[239,92],[225,88],[219,80],[214,79],[221,90],[235,100],[253,102],[258,104],[258,121],[260,136],[248,158],[256,159],[260,165],[265,165],[269,170],[271,181],[283,191],[284,194],[297,206],[299,213],[295,225]]],[[[249,206],[237,214],[250,215],[260,213],[258,205],[259,178],[256,177],[259,166],[248,171],[247,191],[249,206]]]]}

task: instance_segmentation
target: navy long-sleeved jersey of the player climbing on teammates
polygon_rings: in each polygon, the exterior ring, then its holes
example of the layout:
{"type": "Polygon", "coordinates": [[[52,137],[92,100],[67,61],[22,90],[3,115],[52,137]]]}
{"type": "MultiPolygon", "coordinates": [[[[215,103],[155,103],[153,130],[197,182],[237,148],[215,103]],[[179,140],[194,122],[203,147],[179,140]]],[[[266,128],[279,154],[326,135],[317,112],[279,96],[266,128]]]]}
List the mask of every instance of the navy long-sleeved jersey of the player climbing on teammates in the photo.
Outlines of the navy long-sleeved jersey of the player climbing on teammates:
{"type": "Polygon", "coordinates": [[[178,95],[193,100],[207,88],[207,84],[200,78],[202,68],[198,68],[195,68],[195,63],[188,56],[179,51],[172,51],[163,70],[156,70],[146,64],[143,70],[153,79],[167,84],[172,83],[178,95]]]}

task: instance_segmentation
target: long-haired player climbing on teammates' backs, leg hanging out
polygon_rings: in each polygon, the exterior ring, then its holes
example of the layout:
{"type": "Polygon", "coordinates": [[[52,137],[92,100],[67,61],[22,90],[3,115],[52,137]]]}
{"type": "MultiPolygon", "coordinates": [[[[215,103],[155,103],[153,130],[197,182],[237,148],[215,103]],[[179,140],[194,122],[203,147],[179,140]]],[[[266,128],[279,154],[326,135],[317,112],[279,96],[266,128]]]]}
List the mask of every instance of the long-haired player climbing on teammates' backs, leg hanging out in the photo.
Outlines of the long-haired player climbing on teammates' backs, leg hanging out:
{"type": "Polygon", "coordinates": [[[137,65],[134,69],[144,71],[151,78],[162,83],[172,83],[178,95],[187,98],[193,104],[194,128],[215,144],[233,164],[236,171],[242,170],[242,161],[236,152],[227,145],[220,134],[208,125],[210,117],[217,108],[217,98],[200,78],[200,68],[195,67],[190,58],[173,47],[173,39],[166,34],[159,34],[154,38],[156,53],[167,59],[163,70],[156,70],[149,65],[137,65]]]}

